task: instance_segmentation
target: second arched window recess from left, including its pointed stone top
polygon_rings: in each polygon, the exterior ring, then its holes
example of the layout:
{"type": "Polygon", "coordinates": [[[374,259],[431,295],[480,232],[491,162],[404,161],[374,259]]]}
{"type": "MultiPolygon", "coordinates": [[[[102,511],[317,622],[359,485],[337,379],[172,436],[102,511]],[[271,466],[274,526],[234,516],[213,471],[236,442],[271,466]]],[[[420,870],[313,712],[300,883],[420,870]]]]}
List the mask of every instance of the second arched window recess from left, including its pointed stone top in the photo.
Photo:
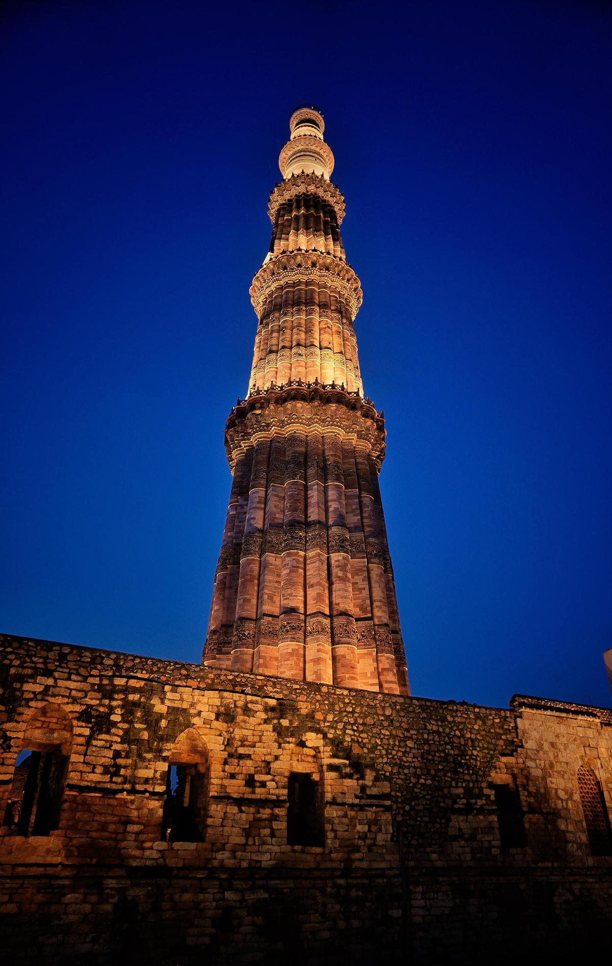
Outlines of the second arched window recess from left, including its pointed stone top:
{"type": "Polygon", "coordinates": [[[161,816],[162,840],[204,841],[209,790],[208,746],[197,728],[186,728],[168,753],[165,801],[161,816]]]}

